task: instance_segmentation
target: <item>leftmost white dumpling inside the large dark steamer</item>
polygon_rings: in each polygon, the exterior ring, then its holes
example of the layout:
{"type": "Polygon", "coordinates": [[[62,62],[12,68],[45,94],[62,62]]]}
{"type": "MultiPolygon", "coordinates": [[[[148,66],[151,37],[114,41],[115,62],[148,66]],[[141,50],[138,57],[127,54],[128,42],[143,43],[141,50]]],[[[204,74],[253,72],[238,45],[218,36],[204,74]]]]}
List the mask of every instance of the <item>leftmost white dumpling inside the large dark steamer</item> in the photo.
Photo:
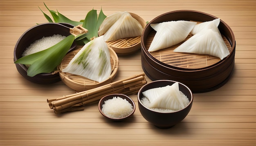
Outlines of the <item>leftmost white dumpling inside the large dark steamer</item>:
{"type": "Polygon", "coordinates": [[[148,51],[158,51],[182,42],[195,27],[195,24],[196,22],[184,20],[150,24],[157,33],[155,34],[148,51]]]}

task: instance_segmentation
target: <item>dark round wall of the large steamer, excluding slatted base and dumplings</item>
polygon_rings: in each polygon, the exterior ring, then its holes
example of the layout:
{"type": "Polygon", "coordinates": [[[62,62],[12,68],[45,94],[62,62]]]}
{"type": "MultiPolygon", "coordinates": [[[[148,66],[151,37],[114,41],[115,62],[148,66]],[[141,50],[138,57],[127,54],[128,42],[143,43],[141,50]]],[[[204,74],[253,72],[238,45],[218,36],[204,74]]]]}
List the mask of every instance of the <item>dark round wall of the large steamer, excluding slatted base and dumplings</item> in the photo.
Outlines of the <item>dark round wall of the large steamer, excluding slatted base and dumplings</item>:
{"type": "MultiPolygon", "coordinates": [[[[164,13],[150,21],[146,25],[141,36],[141,65],[148,77],[151,80],[176,80],[178,82],[182,82],[189,86],[193,93],[212,91],[225,84],[234,70],[236,41],[231,28],[223,20],[220,20],[218,28],[220,33],[223,35],[222,38],[225,38],[225,41],[227,41],[230,54],[223,60],[214,64],[199,68],[180,67],[162,62],[147,51],[151,43],[150,40],[152,39],[152,35],[155,33],[152,27],[150,27],[150,24],[175,20],[205,22],[216,18],[217,17],[213,15],[200,11],[179,10],[164,13]],[[200,82],[202,84],[198,84],[200,82]],[[205,86],[205,83],[208,85],[205,86]]],[[[188,56],[189,54],[190,53],[186,53],[188,56]]],[[[172,55],[167,56],[170,60],[175,60],[173,61],[175,63],[176,61],[179,62],[178,60],[186,60],[186,58],[179,57],[173,59],[172,55]]],[[[189,62],[191,62],[191,58],[188,57],[187,59],[188,66],[191,65],[189,64],[189,62]]],[[[193,61],[194,60],[197,60],[197,58],[195,57],[193,61]]]]}

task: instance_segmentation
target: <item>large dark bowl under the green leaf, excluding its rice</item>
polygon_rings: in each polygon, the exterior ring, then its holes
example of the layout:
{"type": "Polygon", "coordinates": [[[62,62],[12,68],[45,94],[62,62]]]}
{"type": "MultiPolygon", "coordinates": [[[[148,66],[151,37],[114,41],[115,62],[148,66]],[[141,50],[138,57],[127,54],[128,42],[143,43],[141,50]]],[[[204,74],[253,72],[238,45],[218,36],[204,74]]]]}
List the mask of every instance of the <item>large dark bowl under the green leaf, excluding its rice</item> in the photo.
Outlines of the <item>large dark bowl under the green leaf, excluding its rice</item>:
{"type": "MultiPolygon", "coordinates": [[[[14,62],[22,57],[23,51],[33,42],[43,38],[43,36],[48,37],[54,34],[60,34],[68,36],[70,35],[70,29],[74,26],[66,23],[43,23],[38,24],[34,27],[31,27],[25,33],[23,33],[19,40],[16,43],[14,48],[14,62]]],[[[72,51],[76,47],[76,43],[74,42],[69,50],[72,51]]],[[[25,77],[27,80],[31,82],[35,82],[38,84],[52,84],[60,81],[60,77],[58,73],[40,73],[35,75],[34,77],[27,76],[27,67],[23,64],[15,64],[18,72],[25,77]]]]}

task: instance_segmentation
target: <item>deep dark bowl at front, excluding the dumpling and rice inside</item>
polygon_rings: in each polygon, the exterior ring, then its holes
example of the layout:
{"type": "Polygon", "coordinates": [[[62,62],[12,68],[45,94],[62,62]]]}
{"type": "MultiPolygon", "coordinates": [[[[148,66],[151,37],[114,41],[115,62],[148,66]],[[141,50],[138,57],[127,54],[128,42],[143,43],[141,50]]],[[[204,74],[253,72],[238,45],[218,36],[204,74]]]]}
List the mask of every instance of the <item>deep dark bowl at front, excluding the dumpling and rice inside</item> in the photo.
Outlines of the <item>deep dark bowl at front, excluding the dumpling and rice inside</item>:
{"type": "Polygon", "coordinates": [[[138,106],[139,106],[139,111],[141,115],[149,123],[155,125],[158,128],[171,128],[175,124],[178,124],[179,122],[181,122],[191,110],[192,103],[193,103],[193,93],[186,85],[179,82],[180,91],[182,91],[189,98],[190,102],[185,108],[179,111],[167,113],[167,112],[154,111],[144,106],[141,103],[141,98],[143,97],[142,92],[151,88],[163,87],[167,85],[172,85],[174,83],[175,81],[171,81],[171,80],[157,80],[157,81],[153,81],[148,84],[145,84],[140,88],[138,92],[138,106]]]}

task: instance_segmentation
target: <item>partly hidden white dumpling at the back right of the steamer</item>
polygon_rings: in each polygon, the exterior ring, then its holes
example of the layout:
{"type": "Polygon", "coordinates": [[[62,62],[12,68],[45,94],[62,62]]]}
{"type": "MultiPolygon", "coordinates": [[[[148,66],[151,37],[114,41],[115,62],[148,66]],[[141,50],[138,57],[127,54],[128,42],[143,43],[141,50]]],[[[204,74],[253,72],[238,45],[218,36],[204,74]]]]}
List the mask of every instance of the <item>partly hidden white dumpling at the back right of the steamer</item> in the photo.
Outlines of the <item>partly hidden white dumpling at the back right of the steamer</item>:
{"type": "Polygon", "coordinates": [[[214,19],[212,21],[202,22],[200,24],[195,25],[195,27],[192,29],[191,33],[195,35],[196,33],[199,33],[200,31],[203,31],[205,29],[211,29],[214,27],[217,27],[220,24],[220,18],[214,19]]]}

